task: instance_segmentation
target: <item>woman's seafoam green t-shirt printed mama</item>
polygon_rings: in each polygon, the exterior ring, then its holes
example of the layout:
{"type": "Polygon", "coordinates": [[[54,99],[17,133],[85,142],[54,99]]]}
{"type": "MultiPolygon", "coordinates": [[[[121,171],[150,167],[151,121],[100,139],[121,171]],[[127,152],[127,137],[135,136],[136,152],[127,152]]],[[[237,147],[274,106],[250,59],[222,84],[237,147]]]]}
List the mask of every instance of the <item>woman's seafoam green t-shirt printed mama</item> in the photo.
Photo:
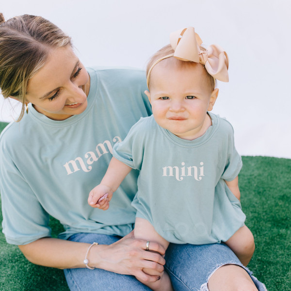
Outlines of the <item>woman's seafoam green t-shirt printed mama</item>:
{"type": "Polygon", "coordinates": [[[19,123],[0,136],[3,233],[12,244],[50,235],[49,214],[78,232],[124,236],[132,230],[138,171],[123,181],[107,211],[90,207],[89,192],[101,181],[112,148],[141,116],[151,114],[142,70],[88,68],[87,109],[63,121],[29,106],[19,123]]]}

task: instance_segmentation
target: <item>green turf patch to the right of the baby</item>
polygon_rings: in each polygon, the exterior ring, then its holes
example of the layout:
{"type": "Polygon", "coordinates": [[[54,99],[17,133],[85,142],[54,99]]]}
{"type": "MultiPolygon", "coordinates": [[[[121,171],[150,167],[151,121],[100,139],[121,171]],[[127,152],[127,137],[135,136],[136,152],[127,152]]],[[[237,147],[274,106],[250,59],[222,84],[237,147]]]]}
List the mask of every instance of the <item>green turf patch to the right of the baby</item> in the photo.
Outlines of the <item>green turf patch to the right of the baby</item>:
{"type": "Polygon", "coordinates": [[[291,160],[243,157],[242,208],[256,250],[249,268],[270,291],[291,290],[291,160]]]}

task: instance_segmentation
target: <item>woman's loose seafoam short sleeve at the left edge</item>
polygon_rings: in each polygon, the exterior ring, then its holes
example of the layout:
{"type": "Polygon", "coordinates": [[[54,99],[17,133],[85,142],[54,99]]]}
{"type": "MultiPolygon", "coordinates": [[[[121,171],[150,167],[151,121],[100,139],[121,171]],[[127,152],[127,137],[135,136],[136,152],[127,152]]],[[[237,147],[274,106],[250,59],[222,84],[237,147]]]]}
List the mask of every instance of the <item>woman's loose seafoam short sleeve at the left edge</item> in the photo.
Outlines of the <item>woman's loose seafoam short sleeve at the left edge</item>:
{"type": "Polygon", "coordinates": [[[8,243],[22,245],[50,236],[49,214],[3,150],[0,150],[0,193],[2,227],[8,243]]]}

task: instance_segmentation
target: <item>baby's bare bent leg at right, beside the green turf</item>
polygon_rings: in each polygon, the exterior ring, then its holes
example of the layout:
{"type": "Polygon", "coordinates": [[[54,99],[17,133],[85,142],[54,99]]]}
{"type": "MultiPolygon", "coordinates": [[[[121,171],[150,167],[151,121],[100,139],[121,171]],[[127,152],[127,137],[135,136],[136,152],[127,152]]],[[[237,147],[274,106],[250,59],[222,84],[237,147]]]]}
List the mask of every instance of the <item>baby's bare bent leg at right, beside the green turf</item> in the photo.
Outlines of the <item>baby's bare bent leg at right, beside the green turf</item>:
{"type": "Polygon", "coordinates": [[[255,251],[254,236],[248,227],[242,226],[239,228],[225,243],[236,254],[242,264],[247,266],[255,251]]]}

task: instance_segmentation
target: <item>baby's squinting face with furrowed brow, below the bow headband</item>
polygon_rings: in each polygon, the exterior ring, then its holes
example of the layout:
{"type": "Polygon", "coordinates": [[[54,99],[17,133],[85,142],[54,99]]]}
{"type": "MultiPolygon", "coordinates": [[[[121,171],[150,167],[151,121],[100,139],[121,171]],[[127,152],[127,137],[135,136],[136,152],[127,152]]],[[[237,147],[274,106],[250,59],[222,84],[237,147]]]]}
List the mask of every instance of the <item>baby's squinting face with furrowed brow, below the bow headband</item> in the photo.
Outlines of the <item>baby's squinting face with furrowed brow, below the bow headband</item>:
{"type": "Polygon", "coordinates": [[[211,125],[218,89],[210,88],[201,64],[178,67],[161,61],[153,68],[148,97],[156,122],[182,139],[193,140],[211,125]]]}

